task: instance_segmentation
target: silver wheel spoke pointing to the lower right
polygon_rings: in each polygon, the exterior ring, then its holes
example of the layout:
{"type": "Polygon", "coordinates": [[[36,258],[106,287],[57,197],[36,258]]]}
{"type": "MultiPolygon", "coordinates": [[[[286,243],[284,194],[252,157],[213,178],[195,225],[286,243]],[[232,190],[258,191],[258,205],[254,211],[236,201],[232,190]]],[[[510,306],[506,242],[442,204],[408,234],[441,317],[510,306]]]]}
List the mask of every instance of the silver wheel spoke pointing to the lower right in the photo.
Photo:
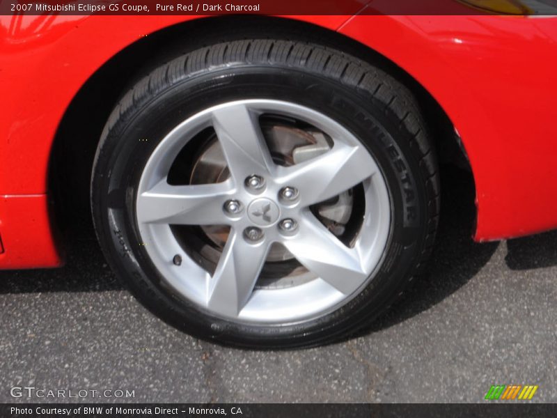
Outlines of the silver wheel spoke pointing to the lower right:
{"type": "Polygon", "coordinates": [[[368,277],[357,249],[346,247],[311,213],[301,219],[297,237],[283,245],[301,265],[346,295],[368,277]]]}

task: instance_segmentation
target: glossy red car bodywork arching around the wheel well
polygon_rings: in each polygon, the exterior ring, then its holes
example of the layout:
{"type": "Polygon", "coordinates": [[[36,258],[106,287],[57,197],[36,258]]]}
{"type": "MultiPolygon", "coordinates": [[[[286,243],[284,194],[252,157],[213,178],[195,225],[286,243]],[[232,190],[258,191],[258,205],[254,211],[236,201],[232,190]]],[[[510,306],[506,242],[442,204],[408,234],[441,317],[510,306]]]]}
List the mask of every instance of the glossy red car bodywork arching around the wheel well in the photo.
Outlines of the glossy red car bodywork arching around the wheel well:
{"type": "MultiPolygon", "coordinates": [[[[58,126],[81,86],[144,36],[195,18],[0,17],[0,268],[63,263],[49,217],[49,158],[58,126]]],[[[284,18],[361,42],[405,70],[437,101],[460,134],[473,171],[476,240],[557,228],[557,20],[284,18]]]]}

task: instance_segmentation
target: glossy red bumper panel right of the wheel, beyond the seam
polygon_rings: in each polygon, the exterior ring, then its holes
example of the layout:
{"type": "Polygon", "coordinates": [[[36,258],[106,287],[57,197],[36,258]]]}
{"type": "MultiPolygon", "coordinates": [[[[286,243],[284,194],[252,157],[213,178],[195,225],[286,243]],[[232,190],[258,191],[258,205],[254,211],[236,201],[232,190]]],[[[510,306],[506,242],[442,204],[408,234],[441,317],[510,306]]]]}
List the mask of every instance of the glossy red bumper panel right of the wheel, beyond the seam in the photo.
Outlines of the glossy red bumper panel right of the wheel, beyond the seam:
{"type": "Polygon", "coordinates": [[[462,137],[476,240],[557,228],[557,19],[356,16],[342,33],[409,72],[462,137]]]}

